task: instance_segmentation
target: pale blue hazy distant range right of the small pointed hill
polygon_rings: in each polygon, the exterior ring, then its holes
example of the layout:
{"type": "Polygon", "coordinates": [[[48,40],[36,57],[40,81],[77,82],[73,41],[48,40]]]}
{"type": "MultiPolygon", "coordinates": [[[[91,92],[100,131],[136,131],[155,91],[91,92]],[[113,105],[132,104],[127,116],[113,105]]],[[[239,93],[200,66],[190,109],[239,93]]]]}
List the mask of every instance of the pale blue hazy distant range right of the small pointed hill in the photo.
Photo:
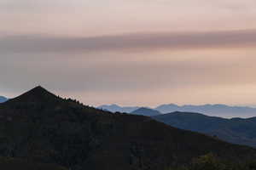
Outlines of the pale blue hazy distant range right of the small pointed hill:
{"type": "Polygon", "coordinates": [[[208,116],[224,117],[252,117],[256,116],[256,108],[229,106],[229,105],[160,105],[155,110],[161,113],[171,113],[174,111],[197,112],[208,116]]]}

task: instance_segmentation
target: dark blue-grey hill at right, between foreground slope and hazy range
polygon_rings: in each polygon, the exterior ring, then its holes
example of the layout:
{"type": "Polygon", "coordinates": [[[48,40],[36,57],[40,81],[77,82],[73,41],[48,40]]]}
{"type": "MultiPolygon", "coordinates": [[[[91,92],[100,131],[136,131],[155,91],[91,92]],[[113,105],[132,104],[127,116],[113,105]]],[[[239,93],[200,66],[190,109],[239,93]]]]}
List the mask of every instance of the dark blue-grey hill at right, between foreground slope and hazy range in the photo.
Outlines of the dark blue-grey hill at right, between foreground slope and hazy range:
{"type": "Polygon", "coordinates": [[[224,119],[199,113],[173,112],[154,116],[154,119],[173,127],[206,133],[234,144],[246,144],[256,148],[256,117],[224,119]]]}

